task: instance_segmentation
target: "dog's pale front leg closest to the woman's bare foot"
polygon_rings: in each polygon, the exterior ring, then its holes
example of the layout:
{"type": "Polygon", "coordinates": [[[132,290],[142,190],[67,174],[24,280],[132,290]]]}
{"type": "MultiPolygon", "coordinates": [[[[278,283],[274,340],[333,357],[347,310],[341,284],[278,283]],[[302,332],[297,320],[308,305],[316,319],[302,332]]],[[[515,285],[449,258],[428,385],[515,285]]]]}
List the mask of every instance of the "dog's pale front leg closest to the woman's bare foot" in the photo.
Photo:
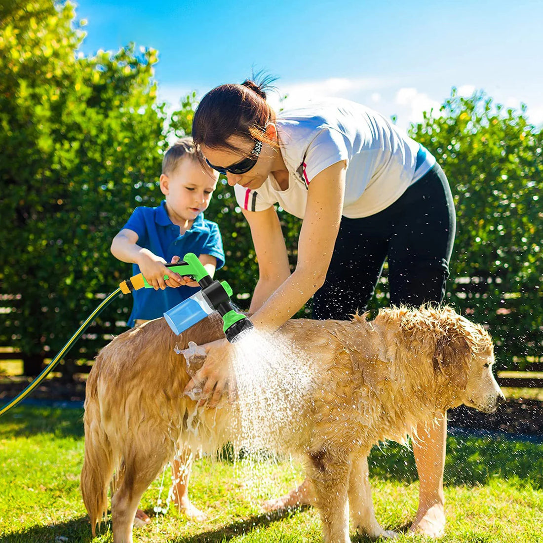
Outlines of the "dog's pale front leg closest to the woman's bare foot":
{"type": "Polygon", "coordinates": [[[395,532],[383,530],[375,518],[369,482],[368,456],[365,453],[357,454],[352,459],[349,477],[349,508],[357,530],[367,534],[370,539],[396,536],[395,532]]]}

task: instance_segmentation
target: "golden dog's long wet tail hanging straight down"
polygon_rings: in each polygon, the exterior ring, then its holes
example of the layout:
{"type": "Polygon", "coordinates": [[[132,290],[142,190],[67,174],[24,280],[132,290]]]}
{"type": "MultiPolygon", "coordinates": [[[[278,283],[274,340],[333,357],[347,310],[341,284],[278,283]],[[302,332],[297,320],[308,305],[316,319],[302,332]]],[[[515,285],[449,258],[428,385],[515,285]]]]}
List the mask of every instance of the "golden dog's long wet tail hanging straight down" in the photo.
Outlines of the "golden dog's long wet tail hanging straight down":
{"type": "Polygon", "coordinates": [[[111,444],[100,418],[97,373],[91,371],[86,384],[85,459],[81,470],[81,495],[91,519],[93,537],[96,525],[99,527],[108,514],[108,486],[115,468],[111,444]]]}

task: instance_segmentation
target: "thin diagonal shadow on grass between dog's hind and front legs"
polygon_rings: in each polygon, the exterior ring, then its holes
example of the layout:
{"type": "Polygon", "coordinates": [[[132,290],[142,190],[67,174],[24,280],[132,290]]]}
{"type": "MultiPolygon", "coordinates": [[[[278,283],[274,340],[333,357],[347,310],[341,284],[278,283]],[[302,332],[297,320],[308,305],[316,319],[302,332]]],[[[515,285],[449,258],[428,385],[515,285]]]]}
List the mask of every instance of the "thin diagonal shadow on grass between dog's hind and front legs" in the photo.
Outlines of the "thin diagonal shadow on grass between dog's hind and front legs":
{"type": "Polygon", "coordinates": [[[274,522],[287,519],[288,517],[309,509],[310,506],[302,506],[296,509],[282,509],[274,513],[250,516],[247,519],[232,522],[229,525],[210,530],[209,532],[201,532],[199,534],[183,536],[179,539],[172,540],[172,543],[223,543],[238,537],[246,535],[254,530],[266,528],[274,522]]]}

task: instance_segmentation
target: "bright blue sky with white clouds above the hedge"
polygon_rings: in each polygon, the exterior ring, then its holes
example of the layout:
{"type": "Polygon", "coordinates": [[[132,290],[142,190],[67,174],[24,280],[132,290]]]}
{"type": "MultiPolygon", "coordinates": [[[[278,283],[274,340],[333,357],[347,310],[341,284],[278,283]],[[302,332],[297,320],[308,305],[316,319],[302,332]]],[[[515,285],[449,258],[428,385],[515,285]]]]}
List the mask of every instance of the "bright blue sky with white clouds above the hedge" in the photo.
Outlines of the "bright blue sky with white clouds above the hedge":
{"type": "Polygon", "coordinates": [[[171,104],[254,67],[279,78],[293,104],[342,96],[404,128],[452,86],[524,102],[543,123],[541,0],[81,0],[77,16],[88,22],[85,54],[130,41],[158,49],[159,96],[171,104]]]}

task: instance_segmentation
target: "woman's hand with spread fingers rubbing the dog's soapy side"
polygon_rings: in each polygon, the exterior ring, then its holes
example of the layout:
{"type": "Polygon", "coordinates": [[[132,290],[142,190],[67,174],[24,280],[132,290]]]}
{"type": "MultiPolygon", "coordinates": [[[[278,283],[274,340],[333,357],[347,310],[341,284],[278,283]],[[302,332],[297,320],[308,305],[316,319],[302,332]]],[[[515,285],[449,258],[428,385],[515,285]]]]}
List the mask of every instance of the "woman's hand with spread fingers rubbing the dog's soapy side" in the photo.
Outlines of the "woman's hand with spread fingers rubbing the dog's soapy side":
{"type": "Polygon", "coordinates": [[[194,374],[185,387],[184,394],[201,387],[199,406],[217,407],[228,390],[229,400],[235,399],[236,386],[232,371],[232,346],[226,338],[203,345],[207,351],[204,365],[194,374]]]}

